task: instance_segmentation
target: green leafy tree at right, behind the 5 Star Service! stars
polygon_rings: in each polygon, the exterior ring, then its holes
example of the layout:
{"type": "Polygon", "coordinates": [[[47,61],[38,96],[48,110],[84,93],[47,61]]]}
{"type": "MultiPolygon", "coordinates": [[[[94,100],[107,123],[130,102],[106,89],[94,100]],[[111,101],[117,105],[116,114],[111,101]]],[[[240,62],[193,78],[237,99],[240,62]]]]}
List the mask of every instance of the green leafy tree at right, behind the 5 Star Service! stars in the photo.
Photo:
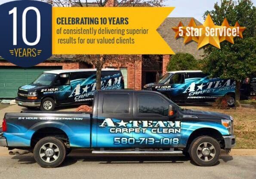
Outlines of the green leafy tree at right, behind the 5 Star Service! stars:
{"type": "Polygon", "coordinates": [[[224,41],[221,49],[213,46],[204,48],[203,71],[212,77],[233,79],[236,82],[235,100],[239,106],[241,80],[250,77],[256,71],[256,7],[251,0],[222,0],[215,3],[212,11],[206,11],[204,18],[210,14],[215,24],[222,24],[227,18],[230,26],[235,22],[246,27],[243,39],[235,37],[234,44],[224,41]]]}

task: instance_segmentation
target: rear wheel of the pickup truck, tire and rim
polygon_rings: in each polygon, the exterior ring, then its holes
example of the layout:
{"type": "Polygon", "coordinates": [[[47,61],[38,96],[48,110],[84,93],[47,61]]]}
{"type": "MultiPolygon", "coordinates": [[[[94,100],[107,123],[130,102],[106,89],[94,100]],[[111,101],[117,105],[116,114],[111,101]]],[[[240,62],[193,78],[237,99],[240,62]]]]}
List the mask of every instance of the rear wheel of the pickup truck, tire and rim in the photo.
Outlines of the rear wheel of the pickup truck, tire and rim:
{"type": "Polygon", "coordinates": [[[44,137],[34,147],[34,158],[43,168],[58,167],[66,157],[66,146],[56,137],[44,137]]]}

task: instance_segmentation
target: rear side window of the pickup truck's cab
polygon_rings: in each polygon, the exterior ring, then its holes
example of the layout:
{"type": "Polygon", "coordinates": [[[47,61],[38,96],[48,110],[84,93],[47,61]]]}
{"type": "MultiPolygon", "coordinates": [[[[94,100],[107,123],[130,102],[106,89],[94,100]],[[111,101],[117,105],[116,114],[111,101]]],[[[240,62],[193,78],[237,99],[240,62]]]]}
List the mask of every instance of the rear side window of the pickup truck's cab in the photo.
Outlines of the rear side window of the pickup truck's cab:
{"type": "Polygon", "coordinates": [[[103,113],[129,113],[129,94],[104,94],[103,113]]]}

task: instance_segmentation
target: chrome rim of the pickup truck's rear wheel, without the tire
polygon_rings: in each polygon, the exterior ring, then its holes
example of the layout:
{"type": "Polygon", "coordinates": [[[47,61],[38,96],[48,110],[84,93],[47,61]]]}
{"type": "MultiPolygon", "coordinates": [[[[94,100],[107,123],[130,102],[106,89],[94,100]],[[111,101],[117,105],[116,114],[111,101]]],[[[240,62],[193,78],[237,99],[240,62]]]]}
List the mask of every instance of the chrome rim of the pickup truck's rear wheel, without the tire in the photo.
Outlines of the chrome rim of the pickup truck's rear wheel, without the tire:
{"type": "Polygon", "coordinates": [[[54,143],[45,143],[40,148],[39,155],[46,163],[52,163],[59,158],[59,147],[54,143]]]}

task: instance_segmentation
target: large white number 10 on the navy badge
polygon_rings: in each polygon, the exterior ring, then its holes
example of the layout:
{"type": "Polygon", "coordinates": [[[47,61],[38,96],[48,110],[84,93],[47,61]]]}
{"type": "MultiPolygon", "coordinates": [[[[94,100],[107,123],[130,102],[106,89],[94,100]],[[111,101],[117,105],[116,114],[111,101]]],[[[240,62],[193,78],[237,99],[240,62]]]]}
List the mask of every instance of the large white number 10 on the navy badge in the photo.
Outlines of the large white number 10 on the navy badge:
{"type": "MultiPolygon", "coordinates": [[[[13,45],[17,46],[17,7],[14,7],[12,10],[9,11],[9,15],[13,14],[13,45]]],[[[28,46],[35,46],[40,41],[41,36],[41,16],[40,12],[35,7],[27,7],[24,9],[22,13],[22,39],[23,42],[28,46]],[[37,15],[37,38],[34,42],[28,42],[27,40],[27,33],[26,33],[26,18],[27,18],[27,12],[29,10],[34,10],[37,15]]]]}

